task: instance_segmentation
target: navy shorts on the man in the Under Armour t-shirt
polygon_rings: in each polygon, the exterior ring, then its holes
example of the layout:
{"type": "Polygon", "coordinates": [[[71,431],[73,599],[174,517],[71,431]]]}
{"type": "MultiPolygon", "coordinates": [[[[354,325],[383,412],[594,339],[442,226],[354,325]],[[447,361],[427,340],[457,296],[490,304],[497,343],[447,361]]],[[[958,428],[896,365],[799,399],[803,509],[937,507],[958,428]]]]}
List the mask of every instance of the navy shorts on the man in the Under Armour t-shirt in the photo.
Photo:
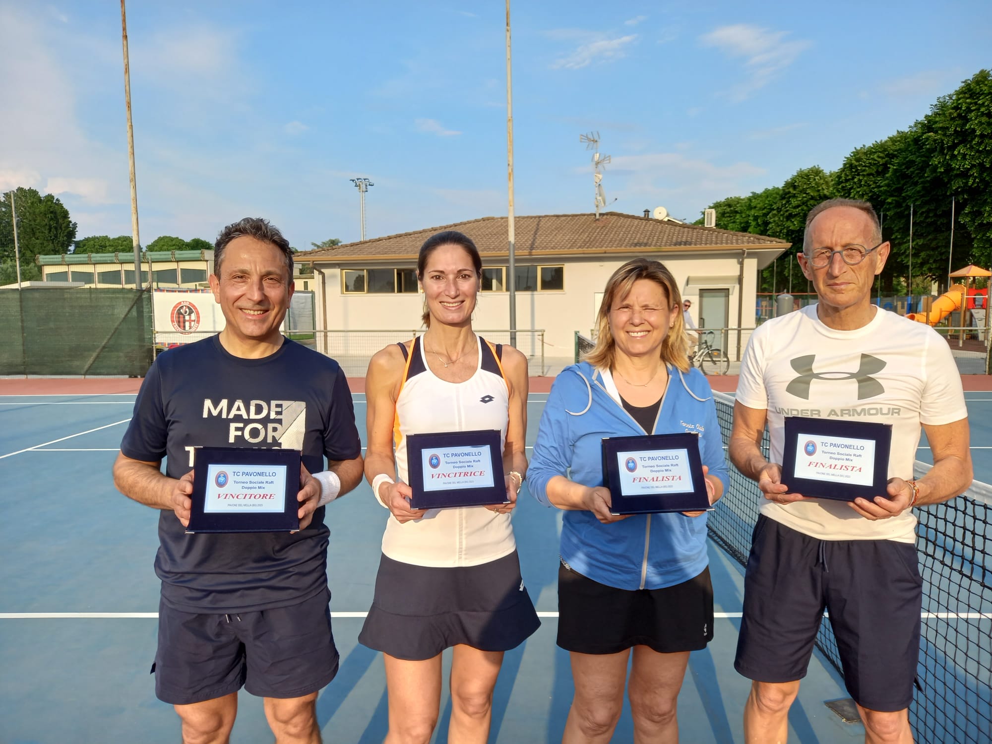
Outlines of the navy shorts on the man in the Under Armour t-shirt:
{"type": "Polygon", "coordinates": [[[734,667],[757,682],[803,679],[825,609],[851,697],[902,710],[913,701],[922,604],[913,544],[816,540],[759,517],[734,667]]]}

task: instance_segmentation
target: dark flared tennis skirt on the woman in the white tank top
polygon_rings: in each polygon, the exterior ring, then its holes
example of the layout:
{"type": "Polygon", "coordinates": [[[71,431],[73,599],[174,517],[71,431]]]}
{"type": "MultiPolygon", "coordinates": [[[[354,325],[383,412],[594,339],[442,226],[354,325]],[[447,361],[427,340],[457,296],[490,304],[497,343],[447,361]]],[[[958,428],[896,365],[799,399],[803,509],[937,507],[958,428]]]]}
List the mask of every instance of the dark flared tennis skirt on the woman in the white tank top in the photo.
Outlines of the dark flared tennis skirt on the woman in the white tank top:
{"type": "Polygon", "coordinates": [[[516,551],[451,568],[383,556],[358,641],[396,659],[423,661],[458,644],[509,651],[540,625],[516,551]]]}

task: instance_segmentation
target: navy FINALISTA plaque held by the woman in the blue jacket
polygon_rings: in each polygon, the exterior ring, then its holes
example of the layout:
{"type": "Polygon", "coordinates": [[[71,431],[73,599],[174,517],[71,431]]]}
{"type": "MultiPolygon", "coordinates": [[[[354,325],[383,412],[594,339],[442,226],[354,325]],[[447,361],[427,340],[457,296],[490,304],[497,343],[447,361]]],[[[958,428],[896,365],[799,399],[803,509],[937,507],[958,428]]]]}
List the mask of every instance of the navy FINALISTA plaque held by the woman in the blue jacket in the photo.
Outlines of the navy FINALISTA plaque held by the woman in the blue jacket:
{"type": "Polygon", "coordinates": [[[611,513],[712,509],[702,475],[698,434],[644,434],[603,439],[603,485],[611,513]]]}

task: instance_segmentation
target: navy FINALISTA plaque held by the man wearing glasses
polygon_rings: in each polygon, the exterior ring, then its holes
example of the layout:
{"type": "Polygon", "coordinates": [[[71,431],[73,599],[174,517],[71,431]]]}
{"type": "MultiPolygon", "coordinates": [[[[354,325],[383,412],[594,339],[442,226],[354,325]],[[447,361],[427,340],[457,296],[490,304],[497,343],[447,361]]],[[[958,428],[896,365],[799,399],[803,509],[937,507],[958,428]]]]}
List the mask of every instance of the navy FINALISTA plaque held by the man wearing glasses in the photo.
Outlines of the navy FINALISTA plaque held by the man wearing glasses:
{"type": "Polygon", "coordinates": [[[892,426],[786,417],[782,482],[819,499],[888,498],[892,426]]]}

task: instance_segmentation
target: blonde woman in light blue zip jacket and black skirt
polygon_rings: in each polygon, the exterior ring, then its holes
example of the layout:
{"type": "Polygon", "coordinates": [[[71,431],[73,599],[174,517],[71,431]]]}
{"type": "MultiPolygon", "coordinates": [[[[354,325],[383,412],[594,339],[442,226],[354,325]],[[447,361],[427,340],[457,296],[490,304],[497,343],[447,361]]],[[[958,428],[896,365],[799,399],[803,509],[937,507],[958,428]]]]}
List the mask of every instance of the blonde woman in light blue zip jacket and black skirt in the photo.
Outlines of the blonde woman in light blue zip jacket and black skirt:
{"type": "Polygon", "coordinates": [[[528,472],[538,501],[565,510],[558,646],[575,696],[562,741],[606,742],[628,691],[637,741],[677,741],[690,651],[713,637],[706,513],[610,514],[606,436],[699,435],[713,504],[727,481],[712,392],[689,368],[682,298],[658,261],[635,259],[606,285],[595,348],[564,369],[541,418],[528,472]]]}

